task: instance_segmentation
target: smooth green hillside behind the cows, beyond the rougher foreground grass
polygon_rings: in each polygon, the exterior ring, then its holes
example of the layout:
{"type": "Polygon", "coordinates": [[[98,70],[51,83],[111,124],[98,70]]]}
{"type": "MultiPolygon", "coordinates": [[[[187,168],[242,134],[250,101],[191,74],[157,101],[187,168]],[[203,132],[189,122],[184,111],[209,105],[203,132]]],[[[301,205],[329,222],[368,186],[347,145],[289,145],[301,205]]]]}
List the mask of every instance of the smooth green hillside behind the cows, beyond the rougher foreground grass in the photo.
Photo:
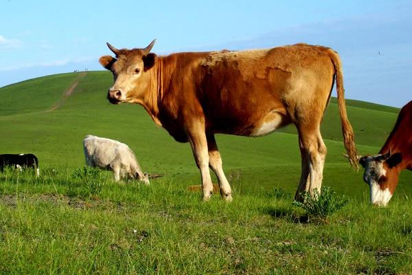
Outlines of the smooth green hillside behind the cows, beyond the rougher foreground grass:
{"type": "MultiPolygon", "coordinates": [[[[87,134],[124,142],[137,154],[144,170],[165,173],[187,185],[198,184],[190,146],[174,142],[138,105],[115,106],[106,100],[112,85],[109,72],[58,74],[26,80],[0,89],[0,153],[35,153],[45,167],[84,165],[82,139],[87,134]],[[67,94],[70,90],[71,93],[67,94]]],[[[393,107],[347,100],[360,153],[377,153],[398,115],[393,107]]],[[[343,159],[341,124],[332,98],[322,124],[328,146],[326,185],[349,195],[365,196],[361,174],[343,159]]],[[[238,192],[260,192],[282,186],[295,190],[300,156],[294,126],[266,137],[218,135],[224,168],[236,175],[238,192]],[[240,175],[240,176],[239,176],[240,175]],[[239,179],[240,178],[240,179],[239,179]]],[[[403,173],[398,192],[411,193],[411,173],[403,173]]],[[[234,176],[233,176],[234,177],[234,176]]]]}

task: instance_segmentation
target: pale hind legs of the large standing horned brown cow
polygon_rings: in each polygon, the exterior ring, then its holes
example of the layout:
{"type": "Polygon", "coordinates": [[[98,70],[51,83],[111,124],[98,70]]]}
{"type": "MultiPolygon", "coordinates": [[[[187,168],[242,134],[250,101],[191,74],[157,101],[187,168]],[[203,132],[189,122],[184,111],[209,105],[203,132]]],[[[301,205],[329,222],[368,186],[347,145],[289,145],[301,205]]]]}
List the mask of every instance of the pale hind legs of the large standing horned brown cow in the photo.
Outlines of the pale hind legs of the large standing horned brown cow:
{"type": "Polygon", "coordinates": [[[313,195],[314,189],[317,188],[320,193],[323,166],[328,150],[323,143],[319,128],[315,131],[299,129],[299,146],[301,147],[302,171],[295,199],[301,201],[301,192],[308,191],[310,195],[313,195]]]}

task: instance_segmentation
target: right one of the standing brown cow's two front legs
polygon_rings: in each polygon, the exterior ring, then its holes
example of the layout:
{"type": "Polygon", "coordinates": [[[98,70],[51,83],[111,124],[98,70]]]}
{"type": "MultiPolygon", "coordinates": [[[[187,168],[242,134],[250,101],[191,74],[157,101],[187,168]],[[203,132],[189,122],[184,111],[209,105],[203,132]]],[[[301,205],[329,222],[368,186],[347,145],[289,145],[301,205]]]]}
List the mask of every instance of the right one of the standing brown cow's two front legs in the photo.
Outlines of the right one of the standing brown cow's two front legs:
{"type": "Polygon", "coordinates": [[[214,171],[216,177],[218,177],[220,195],[226,201],[231,201],[231,188],[229,181],[227,181],[225,173],[223,172],[222,158],[220,157],[214,135],[207,135],[207,149],[209,151],[209,167],[214,171]]]}

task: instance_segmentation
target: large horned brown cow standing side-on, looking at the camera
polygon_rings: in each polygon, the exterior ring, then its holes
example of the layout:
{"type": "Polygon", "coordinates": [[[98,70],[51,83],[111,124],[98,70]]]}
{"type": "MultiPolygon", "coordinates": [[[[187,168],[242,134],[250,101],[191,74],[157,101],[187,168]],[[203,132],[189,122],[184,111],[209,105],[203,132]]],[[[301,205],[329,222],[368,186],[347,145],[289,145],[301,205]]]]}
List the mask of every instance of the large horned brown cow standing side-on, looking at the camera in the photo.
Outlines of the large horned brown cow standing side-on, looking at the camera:
{"type": "Polygon", "coordinates": [[[321,188],[326,147],[320,124],[334,78],[343,140],[357,166],[352,126],[347,120],[339,55],[328,47],[306,44],[240,52],[182,52],[168,56],[144,49],[118,50],[100,64],[113,73],[107,98],[113,104],[141,104],[152,120],[178,142],[190,142],[201,172],[203,199],[216,173],[220,194],[231,201],[231,187],[222,170],[214,135],[258,137],[293,123],[299,132],[303,191],[321,188]]]}

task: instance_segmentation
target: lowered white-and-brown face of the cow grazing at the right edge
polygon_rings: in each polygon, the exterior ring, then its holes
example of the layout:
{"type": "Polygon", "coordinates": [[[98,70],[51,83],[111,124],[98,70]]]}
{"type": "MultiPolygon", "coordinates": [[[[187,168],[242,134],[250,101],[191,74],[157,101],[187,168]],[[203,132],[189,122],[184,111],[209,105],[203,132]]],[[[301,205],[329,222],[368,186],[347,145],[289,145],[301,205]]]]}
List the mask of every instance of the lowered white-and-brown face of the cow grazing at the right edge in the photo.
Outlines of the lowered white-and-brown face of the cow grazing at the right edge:
{"type": "Polygon", "coordinates": [[[396,166],[402,162],[401,153],[364,156],[359,163],[365,168],[363,180],[369,185],[371,203],[386,206],[398,184],[396,166]]]}

